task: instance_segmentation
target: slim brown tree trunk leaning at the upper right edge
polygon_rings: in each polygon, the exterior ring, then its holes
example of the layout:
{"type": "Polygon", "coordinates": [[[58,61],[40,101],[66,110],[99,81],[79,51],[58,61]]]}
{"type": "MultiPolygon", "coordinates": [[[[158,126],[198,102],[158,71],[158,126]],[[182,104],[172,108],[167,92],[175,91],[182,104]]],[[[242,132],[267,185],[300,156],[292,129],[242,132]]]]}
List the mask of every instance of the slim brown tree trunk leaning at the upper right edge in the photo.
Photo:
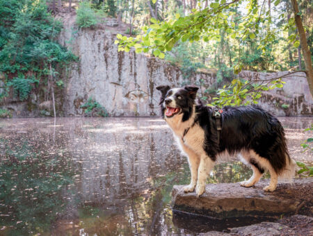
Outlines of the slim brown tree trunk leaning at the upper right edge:
{"type": "Polygon", "coordinates": [[[303,58],[305,61],[305,70],[307,71],[307,83],[310,87],[311,96],[313,96],[313,68],[310,49],[307,45],[307,37],[305,35],[305,30],[301,21],[300,15],[297,15],[299,12],[298,3],[296,0],[291,0],[291,4],[294,8],[294,18],[296,20],[296,27],[300,36],[300,47],[302,49],[303,58]]]}

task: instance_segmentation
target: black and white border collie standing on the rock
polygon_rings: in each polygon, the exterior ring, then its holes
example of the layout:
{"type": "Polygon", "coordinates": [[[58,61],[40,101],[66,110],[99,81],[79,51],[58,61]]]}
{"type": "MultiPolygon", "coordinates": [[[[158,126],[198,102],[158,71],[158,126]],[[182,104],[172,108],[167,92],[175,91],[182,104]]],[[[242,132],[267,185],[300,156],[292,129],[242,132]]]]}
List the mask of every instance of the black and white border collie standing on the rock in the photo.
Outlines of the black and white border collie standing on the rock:
{"type": "Polygon", "coordinates": [[[226,106],[216,118],[215,108],[195,99],[198,87],[171,89],[166,85],[157,90],[161,91],[161,115],[188,156],[191,183],[184,192],[195,189],[198,197],[203,194],[214,162],[230,155],[239,155],[253,170],[252,177],[241,186],[255,185],[266,170],[271,180],[264,191],[273,192],[278,177],[294,177],[296,162],[289,157],[284,129],[270,113],[257,106],[226,106]]]}

